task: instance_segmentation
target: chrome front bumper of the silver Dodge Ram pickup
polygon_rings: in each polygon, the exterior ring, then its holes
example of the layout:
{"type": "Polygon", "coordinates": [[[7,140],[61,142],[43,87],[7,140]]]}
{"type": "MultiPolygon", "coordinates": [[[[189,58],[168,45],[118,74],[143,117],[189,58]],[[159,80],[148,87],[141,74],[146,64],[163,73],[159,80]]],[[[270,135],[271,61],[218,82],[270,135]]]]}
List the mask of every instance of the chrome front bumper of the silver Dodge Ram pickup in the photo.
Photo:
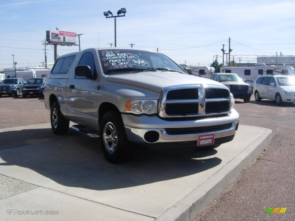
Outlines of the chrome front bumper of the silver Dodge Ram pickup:
{"type": "Polygon", "coordinates": [[[134,116],[122,114],[122,119],[125,127],[125,131],[129,141],[135,143],[165,143],[165,142],[189,142],[196,141],[199,135],[213,134],[216,138],[222,138],[234,135],[237,131],[239,123],[239,114],[236,110],[232,110],[230,114],[226,116],[211,116],[209,118],[202,118],[197,120],[179,120],[179,121],[166,121],[158,116],[134,116]],[[196,128],[196,127],[211,127],[214,125],[229,124],[231,126],[227,129],[216,129],[212,131],[202,131],[200,133],[189,134],[168,134],[165,128],[196,128]],[[153,131],[153,134],[159,134],[156,141],[147,141],[145,135],[147,132],[153,131]]]}

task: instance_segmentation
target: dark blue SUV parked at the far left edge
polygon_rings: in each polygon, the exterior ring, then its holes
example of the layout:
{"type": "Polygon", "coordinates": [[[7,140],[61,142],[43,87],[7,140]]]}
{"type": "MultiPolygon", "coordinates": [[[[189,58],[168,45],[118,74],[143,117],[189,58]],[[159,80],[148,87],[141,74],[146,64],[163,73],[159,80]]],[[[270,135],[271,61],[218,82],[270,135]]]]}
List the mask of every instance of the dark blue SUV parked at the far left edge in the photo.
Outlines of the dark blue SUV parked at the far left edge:
{"type": "Polygon", "coordinates": [[[25,84],[24,79],[18,77],[4,79],[0,85],[0,97],[6,94],[18,97],[19,93],[22,93],[22,88],[25,84]]]}

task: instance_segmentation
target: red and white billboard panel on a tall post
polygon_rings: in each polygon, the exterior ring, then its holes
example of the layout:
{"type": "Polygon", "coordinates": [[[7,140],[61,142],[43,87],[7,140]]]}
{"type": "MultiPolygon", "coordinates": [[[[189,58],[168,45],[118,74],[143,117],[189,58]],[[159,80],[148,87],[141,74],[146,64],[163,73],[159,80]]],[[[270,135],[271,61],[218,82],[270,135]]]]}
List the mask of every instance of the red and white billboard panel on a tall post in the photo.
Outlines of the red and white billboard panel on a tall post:
{"type": "Polygon", "coordinates": [[[52,44],[76,44],[76,32],[65,32],[59,30],[48,30],[46,32],[46,40],[52,44]]]}

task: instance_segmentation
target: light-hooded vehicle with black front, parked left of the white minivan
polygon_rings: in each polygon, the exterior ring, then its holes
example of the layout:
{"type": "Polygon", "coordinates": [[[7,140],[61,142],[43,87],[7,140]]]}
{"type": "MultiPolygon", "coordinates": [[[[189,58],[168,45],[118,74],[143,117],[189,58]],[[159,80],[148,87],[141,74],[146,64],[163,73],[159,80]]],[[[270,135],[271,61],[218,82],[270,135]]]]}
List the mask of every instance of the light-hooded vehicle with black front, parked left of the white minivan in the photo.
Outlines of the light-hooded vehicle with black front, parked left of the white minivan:
{"type": "Polygon", "coordinates": [[[245,103],[250,101],[252,90],[250,84],[243,82],[242,78],[233,73],[214,73],[210,77],[212,80],[216,80],[230,89],[230,92],[234,95],[234,98],[244,99],[245,103]]]}

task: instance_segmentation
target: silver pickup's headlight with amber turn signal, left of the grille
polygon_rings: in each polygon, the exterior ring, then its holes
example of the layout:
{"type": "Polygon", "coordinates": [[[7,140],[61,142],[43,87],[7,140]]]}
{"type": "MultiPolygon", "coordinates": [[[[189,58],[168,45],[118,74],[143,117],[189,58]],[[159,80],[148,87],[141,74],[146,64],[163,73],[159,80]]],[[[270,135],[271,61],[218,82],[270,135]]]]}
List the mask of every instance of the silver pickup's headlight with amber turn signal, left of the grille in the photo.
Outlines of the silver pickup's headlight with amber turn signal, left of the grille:
{"type": "Polygon", "coordinates": [[[155,114],[157,113],[158,100],[127,100],[125,103],[126,113],[155,114]]]}

